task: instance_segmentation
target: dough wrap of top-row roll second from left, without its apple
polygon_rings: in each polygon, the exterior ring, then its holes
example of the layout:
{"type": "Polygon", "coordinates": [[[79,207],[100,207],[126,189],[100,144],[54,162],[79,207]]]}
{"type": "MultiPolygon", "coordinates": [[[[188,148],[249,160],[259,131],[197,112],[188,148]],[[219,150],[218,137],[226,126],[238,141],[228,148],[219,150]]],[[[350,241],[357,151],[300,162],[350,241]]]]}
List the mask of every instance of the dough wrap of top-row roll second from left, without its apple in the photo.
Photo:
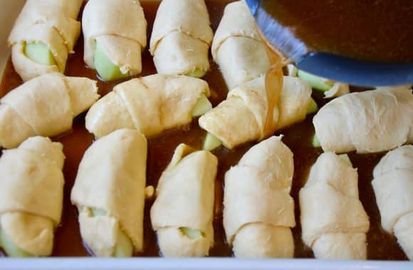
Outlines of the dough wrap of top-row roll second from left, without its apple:
{"type": "Polygon", "coordinates": [[[147,21],[138,0],[89,0],[83,10],[84,60],[95,68],[95,43],[124,74],[142,71],[147,21]]]}

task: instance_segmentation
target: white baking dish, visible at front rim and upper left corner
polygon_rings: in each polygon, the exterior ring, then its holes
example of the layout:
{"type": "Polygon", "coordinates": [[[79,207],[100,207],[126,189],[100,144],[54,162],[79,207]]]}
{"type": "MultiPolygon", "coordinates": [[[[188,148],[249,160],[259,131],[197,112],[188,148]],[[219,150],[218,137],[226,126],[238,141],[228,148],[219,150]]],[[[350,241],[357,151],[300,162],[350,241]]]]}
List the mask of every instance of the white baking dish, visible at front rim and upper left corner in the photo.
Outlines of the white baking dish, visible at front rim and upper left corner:
{"type": "MultiPolygon", "coordinates": [[[[145,0],[143,0],[145,1],[145,0]]],[[[7,36],[24,0],[0,0],[0,74],[9,58],[7,36]]],[[[409,261],[320,261],[315,259],[246,260],[204,259],[98,259],[98,258],[0,258],[0,269],[413,269],[409,261]]]]}

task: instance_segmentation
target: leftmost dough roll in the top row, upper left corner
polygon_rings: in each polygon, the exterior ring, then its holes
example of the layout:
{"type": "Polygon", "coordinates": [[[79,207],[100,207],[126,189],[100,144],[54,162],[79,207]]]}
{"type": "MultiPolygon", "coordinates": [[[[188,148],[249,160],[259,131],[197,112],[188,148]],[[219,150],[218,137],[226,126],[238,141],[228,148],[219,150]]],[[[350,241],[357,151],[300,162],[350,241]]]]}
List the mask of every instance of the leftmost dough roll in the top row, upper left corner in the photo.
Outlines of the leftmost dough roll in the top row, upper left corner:
{"type": "MultiPolygon", "coordinates": [[[[65,71],[68,54],[74,53],[73,47],[80,34],[80,22],[76,20],[82,3],[83,0],[26,1],[9,36],[11,60],[23,81],[65,71]],[[29,47],[36,44],[41,44],[50,55],[48,63],[28,55],[29,47]]],[[[38,57],[39,53],[34,51],[38,57]]]]}

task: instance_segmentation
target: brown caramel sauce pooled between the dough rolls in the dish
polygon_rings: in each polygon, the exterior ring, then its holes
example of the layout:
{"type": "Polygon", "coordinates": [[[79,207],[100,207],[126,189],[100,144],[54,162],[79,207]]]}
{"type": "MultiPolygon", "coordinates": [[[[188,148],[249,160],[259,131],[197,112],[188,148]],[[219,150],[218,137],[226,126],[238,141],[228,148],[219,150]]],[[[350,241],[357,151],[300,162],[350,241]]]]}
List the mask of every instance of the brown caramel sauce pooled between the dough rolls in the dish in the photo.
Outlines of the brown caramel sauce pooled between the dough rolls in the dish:
{"type": "MultiPolygon", "coordinates": [[[[224,6],[228,1],[207,0],[206,4],[211,16],[211,25],[216,30],[218,23],[224,11],[224,6]]],[[[157,1],[142,1],[145,10],[145,17],[148,21],[148,40],[152,32],[152,24],[155,19],[158,3],[157,1]]],[[[97,80],[95,70],[90,70],[83,63],[83,41],[80,38],[75,48],[75,54],[70,55],[68,59],[66,75],[83,76],[97,80]]],[[[142,76],[155,74],[155,66],[152,57],[146,49],[142,54],[142,76]]],[[[224,79],[219,72],[218,66],[211,60],[211,70],[204,77],[211,87],[211,102],[216,106],[226,98],[228,89],[224,79]]],[[[11,60],[6,65],[4,77],[0,85],[0,97],[7,92],[21,85],[22,81],[15,72],[11,60]]],[[[98,82],[100,95],[105,95],[112,90],[114,85],[119,82],[98,82]]],[[[361,91],[359,88],[352,88],[352,91],[361,91]]],[[[314,92],[313,97],[321,107],[327,101],[318,92],[314,92]]],[[[88,250],[83,245],[80,237],[78,225],[78,212],[76,207],[70,203],[70,190],[73,186],[78,166],[83,153],[93,143],[93,135],[85,129],[85,114],[81,114],[73,121],[72,131],[53,138],[54,141],[60,141],[63,145],[63,151],[66,155],[63,173],[65,175],[65,187],[63,198],[63,217],[61,226],[58,227],[55,234],[53,257],[83,257],[90,256],[88,250]]],[[[312,258],[313,252],[305,247],[301,240],[300,229],[300,209],[298,205],[298,192],[305,184],[310,167],[317,157],[322,153],[320,148],[313,148],[310,144],[311,136],[314,134],[312,117],[309,116],[305,121],[291,126],[288,129],[278,131],[277,135],[283,134],[283,142],[291,148],[294,153],[294,178],[291,195],[296,202],[295,214],[297,225],[294,227],[293,236],[296,244],[296,258],[312,258]]],[[[206,132],[199,128],[197,119],[192,123],[182,126],[179,129],[165,131],[160,136],[148,140],[147,156],[147,185],[157,185],[157,181],[164,168],[166,168],[174,149],[181,143],[201,148],[206,132]]],[[[219,167],[215,185],[215,219],[214,234],[215,244],[211,248],[211,257],[231,257],[231,248],[226,243],[224,227],[222,225],[222,201],[224,195],[224,174],[231,166],[238,163],[241,156],[253,146],[254,143],[247,143],[233,150],[228,150],[221,146],[213,153],[219,158],[219,167]]],[[[115,146],[114,146],[115,147],[115,146]]],[[[387,234],[380,226],[380,213],[375,202],[375,195],[372,190],[372,170],[384,153],[375,153],[360,155],[350,153],[350,159],[358,169],[360,200],[370,216],[370,230],[367,233],[368,259],[392,259],[402,260],[407,257],[397,244],[397,240],[390,234],[387,234]]],[[[160,256],[157,247],[157,237],[150,224],[150,207],[152,200],[145,202],[144,217],[144,239],[145,251],[142,254],[135,254],[137,257],[158,257],[160,256]]]]}

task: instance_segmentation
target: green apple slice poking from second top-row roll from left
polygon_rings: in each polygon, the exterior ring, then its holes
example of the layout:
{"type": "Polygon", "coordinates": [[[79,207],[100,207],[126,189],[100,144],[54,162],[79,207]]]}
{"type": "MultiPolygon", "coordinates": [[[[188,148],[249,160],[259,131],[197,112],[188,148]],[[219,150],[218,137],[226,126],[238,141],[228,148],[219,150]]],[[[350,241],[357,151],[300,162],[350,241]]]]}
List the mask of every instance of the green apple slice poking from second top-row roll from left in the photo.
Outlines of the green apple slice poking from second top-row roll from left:
{"type": "Polygon", "coordinates": [[[110,61],[105,51],[100,48],[97,42],[95,46],[94,63],[99,76],[105,81],[120,80],[129,77],[129,74],[122,73],[120,68],[110,61]]]}

